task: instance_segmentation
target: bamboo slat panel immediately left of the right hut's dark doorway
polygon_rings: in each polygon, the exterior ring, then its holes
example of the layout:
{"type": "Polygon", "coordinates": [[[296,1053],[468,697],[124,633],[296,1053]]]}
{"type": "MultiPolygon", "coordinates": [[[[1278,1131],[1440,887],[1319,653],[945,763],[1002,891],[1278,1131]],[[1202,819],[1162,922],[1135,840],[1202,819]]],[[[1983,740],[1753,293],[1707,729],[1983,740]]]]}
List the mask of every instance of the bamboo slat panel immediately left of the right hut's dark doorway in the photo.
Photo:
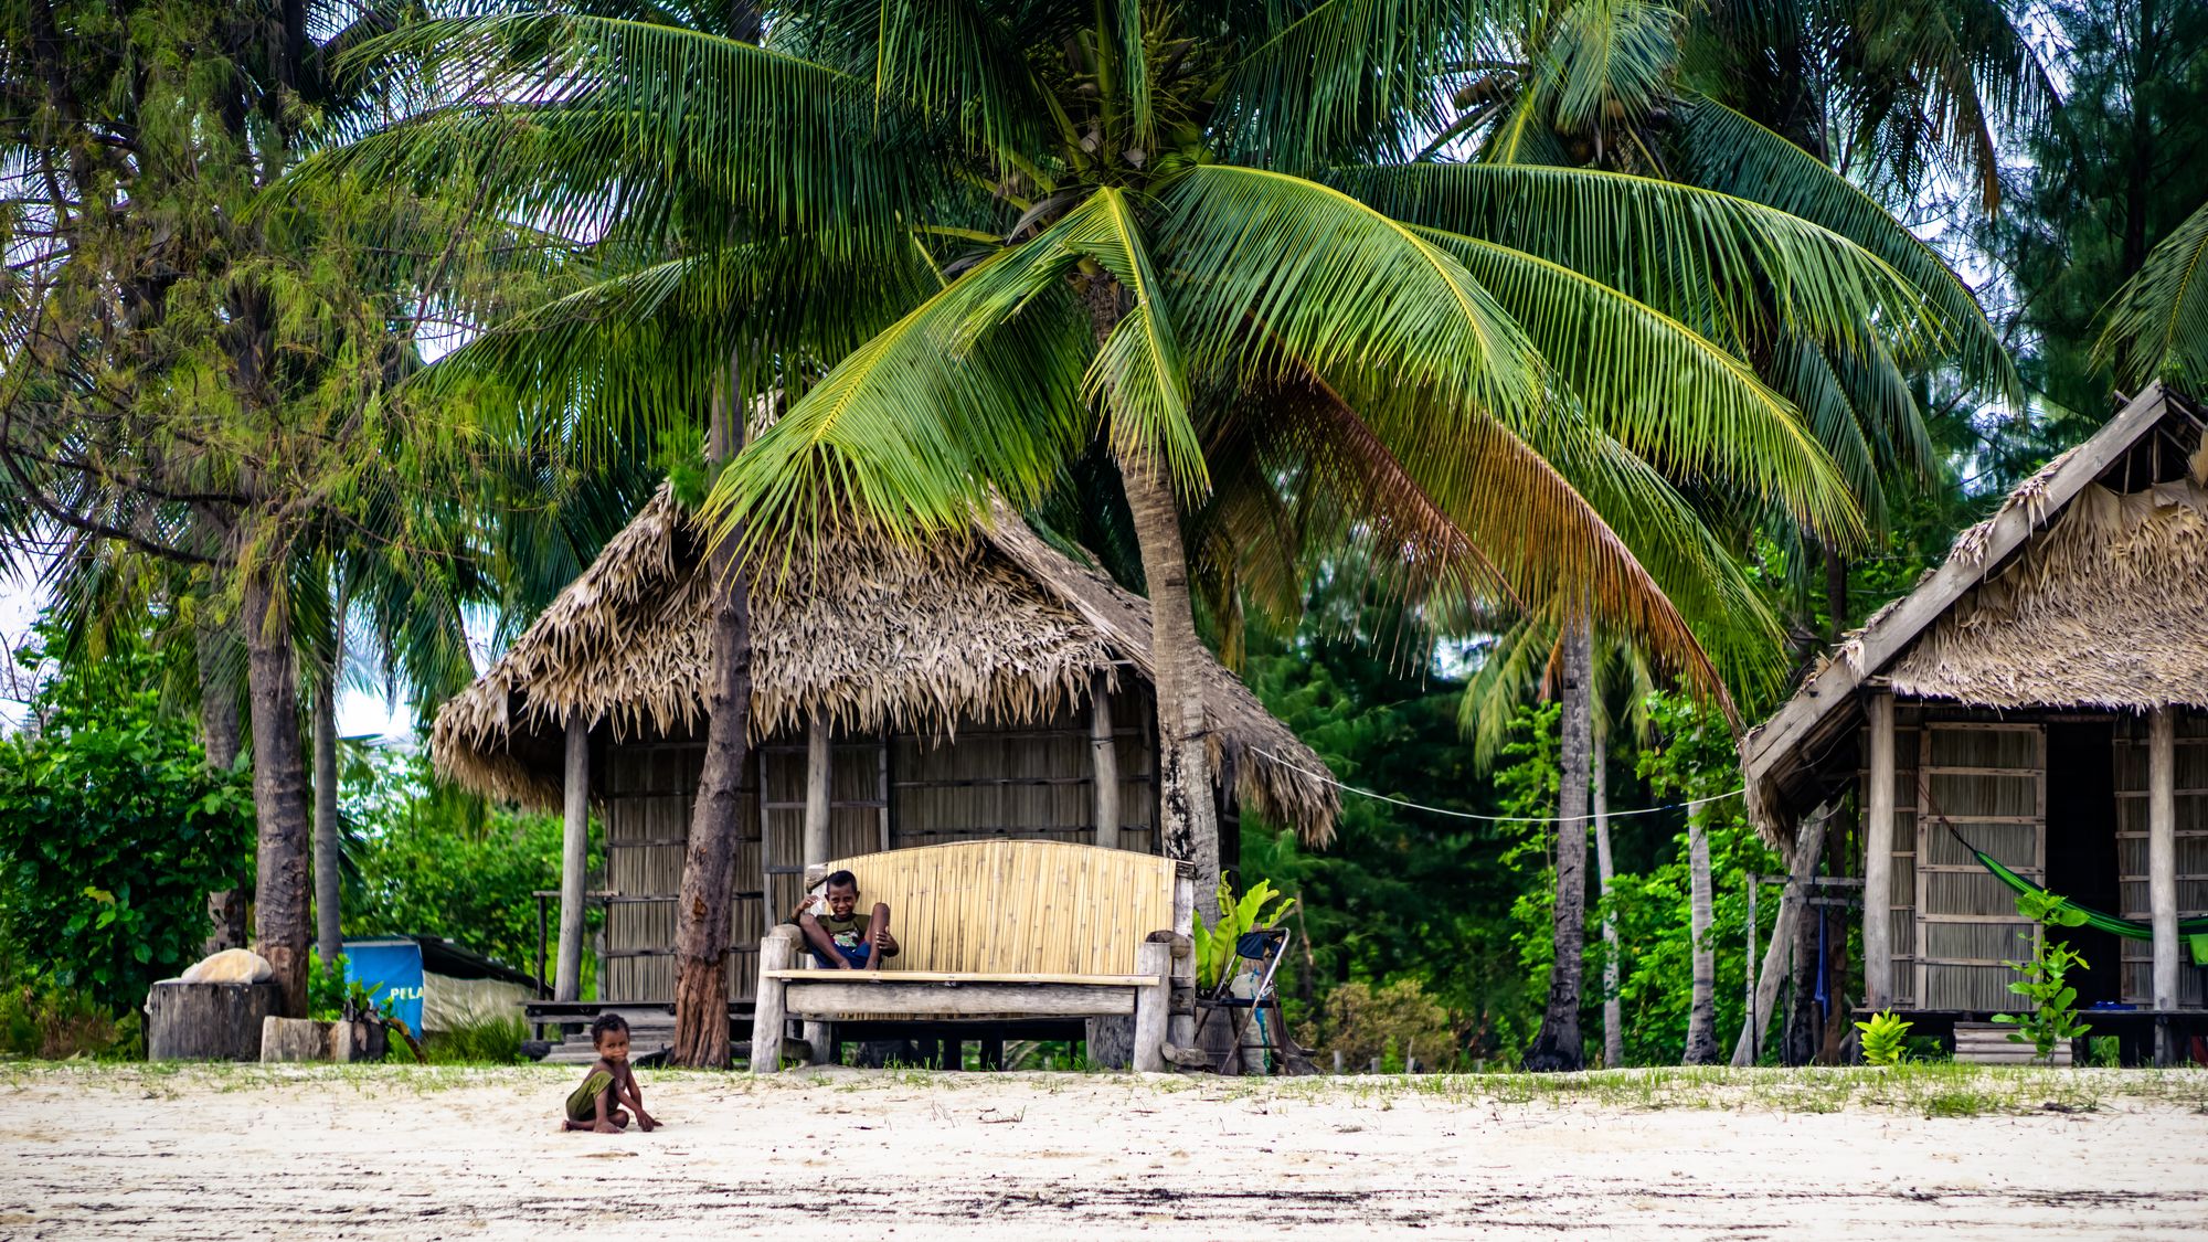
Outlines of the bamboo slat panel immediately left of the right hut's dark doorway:
{"type": "Polygon", "coordinates": [[[2016,723],[1925,723],[1917,734],[1914,1006],[2016,1010],[2005,959],[2031,952],[2016,895],[1978,866],[1939,815],[2018,875],[2047,877],[2047,731],[2016,723]]]}

